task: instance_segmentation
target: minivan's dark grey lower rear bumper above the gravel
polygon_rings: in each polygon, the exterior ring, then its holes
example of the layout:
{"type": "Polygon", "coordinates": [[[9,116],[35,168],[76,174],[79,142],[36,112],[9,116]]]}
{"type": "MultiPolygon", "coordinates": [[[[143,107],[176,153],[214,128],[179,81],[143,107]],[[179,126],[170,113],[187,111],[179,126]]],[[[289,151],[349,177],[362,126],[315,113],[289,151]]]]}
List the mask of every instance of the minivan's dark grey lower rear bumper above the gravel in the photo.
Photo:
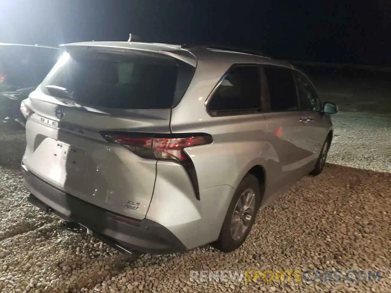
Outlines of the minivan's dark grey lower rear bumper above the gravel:
{"type": "Polygon", "coordinates": [[[65,193],[39,179],[22,165],[29,201],[45,212],[77,222],[103,242],[148,254],[185,252],[187,248],[172,232],[148,219],[136,220],[112,213],[65,193]]]}

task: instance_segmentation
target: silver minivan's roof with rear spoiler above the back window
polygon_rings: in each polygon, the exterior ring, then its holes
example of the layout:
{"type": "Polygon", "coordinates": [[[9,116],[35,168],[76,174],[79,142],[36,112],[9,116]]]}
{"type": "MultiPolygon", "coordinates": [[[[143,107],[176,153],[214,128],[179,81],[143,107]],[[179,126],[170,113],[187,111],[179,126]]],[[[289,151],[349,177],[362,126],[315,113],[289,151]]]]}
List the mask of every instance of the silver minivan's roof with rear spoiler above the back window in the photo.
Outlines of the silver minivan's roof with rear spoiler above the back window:
{"type": "Polygon", "coordinates": [[[124,51],[124,50],[138,50],[144,52],[162,53],[165,55],[171,55],[177,59],[181,59],[186,63],[196,66],[197,59],[220,59],[226,60],[228,63],[264,63],[274,64],[277,66],[284,66],[292,68],[292,65],[263,54],[262,52],[254,52],[251,50],[241,50],[224,46],[214,45],[174,45],[166,43],[144,43],[144,42],[129,42],[129,41],[90,41],[79,43],[62,44],[60,47],[75,47],[85,46],[94,48],[111,48],[112,50],[124,51]],[[256,59],[254,58],[256,57],[256,59]]]}

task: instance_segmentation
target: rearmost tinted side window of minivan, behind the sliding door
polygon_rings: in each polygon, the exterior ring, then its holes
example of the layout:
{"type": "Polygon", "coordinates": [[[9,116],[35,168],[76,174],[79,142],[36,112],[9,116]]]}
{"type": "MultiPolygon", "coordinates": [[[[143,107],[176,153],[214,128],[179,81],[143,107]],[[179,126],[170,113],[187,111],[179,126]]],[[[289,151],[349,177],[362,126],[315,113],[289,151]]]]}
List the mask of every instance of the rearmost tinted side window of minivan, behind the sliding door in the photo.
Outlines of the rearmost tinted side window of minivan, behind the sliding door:
{"type": "Polygon", "coordinates": [[[223,78],[209,102],[210,114],[218,116],[260,111],[258,66],[235,66],[223,78]]]}

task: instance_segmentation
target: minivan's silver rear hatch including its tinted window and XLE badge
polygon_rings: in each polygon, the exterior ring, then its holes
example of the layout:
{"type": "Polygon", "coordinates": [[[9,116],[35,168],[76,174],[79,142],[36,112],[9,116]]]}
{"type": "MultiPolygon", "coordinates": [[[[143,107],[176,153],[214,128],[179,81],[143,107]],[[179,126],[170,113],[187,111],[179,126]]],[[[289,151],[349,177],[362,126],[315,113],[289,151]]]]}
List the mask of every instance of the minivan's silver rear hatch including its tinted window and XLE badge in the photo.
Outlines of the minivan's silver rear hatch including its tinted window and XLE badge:
{"type": "Polygon", "coordinates": [[[30,94],[34,114],[26,124],[23,163],[66,193],[143,219],[156,160],[105,137],[170,133],[171,108],[186,91],[194,66],[158,52],[125,51],[67,49],[30,94]]]}

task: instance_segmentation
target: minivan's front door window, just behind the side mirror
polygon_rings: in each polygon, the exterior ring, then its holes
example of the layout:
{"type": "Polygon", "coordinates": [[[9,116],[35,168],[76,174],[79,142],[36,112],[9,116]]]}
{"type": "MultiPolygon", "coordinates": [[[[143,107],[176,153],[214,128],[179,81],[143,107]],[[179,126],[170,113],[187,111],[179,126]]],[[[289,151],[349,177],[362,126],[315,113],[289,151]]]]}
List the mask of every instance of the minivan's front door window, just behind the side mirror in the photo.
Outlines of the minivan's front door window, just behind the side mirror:
{"type": "Polygon", "coordinates": [[[300,110],[320,111],[320,100],[311,82],[298,71],[294,73],[298,88],[300,110]]]}

